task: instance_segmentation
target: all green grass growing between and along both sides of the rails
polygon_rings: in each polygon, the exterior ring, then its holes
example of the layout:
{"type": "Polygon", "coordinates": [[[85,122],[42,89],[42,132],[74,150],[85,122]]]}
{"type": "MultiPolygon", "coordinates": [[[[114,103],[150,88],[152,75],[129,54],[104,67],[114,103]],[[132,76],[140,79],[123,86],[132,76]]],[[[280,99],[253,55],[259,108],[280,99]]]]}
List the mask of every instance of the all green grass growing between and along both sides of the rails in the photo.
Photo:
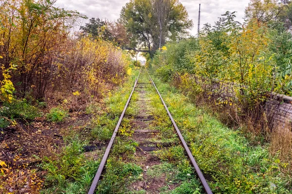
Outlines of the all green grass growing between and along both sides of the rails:
{"type": "MultiPolygon", "coordinates": [[[[137,73],[137,71],[135,71],[137,73]]],[[[105,100],[106,109],[91,105],[88,113],[94,113],[91,121],[91,138],[88,141],[109,140],[118,118],[128,100],[135,77],[132,76],[122,88],[105,100]]],[[[141,82],[147,81],[147,76],[141,77],[141,82]]],[[[291,178],[281,171],[285,164],[277,157],[269,154],[269,145],[252,146],[240,131],[229,129],[211,116],[204,108],[196,107],[188,98],[175,88],[160,80],[154,80],[164,97],[184,139],[188,143],[201,171],[213,191],[217,194],[288,194],[291,193],[291,178]]],[[[164,175],[171,187],[160,189],[161,194],[200,194],[203,193],[201,183],[196,177],[193,167],[184,154],[178,142],[172,124],[156,94],[154,88],[149,88],[154,122],[151,128],[157,129],[160,142],[173,142],[170,149],[155,151],[161,159],[161,164],[148,169],[150,178],[164,175]]],[[[131,135],[130,122],[137,114],[137,93],[126,112],[121,124],[119,136],[113,144],[106,172],[97,193],[107,194],[146,194],[146,191],[129,191],[131,183],[143,180],[142,168],[135,163],[135,147],[137,142],[129,140],[131,135]]],[[[55,158],[45,159],[42,168],[48,174],[45,189],[42,193],[87,193],[93,176],[96,173],[104,150],[97,151],[96,160],[86,158],[82,149],[87,143],[78,137],[67,138],[66,147],[55,158]]],[[[156,141],[156,140],[155,140],[156,141]]]]}

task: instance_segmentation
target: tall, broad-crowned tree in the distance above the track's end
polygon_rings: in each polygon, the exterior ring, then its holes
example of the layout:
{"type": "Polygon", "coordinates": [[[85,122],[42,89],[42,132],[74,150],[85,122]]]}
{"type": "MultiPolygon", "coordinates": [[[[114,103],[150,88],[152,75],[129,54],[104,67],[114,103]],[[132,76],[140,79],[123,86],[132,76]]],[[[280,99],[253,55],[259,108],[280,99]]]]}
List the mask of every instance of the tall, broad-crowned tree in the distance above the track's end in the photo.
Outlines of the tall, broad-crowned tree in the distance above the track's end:
{"type": "Polygon", "coordinates": [[[182,38],[193,26],[178,0],[130,0],[122,8],[120,20],[131,35],[131,46],[149,51],[161,48],[166,40],[182,38]]]}

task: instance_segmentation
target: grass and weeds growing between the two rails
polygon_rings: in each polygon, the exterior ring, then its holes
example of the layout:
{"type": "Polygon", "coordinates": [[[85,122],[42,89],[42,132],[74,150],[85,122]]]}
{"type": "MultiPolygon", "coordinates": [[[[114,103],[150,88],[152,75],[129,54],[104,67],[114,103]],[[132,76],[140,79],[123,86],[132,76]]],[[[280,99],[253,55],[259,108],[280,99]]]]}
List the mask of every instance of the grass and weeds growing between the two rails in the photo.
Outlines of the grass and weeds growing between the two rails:
{"type": "MultiPolygon", "coordinates": [[[[148,76],[146,72],[142,71],[139,82],[148,82],[148,76]]],[[[148,88],[146,88],[148,89],[148,88]]],[[[148,89],[146,98],[158,97],[157,93],[152,89],[148,89]]],[[[139,184],[136,182],[151,181],[151,179],[157,179],[163,181],[162,184],[166,184],[161,188],[157,188],[157,192],[162,194],[193,194],[202,192],[202,187],[199,180],[197,179],[194,169],[191,167],[189,160],[184,155],[182,146],[175,145],[179,144],[177,135],[174,133],[172,124],[166,114],[166,111],[161,102],[151,102],[152,107],[151,115],[154,116],[154,122],[149,124],[149,128],[160,131],[159,136],[151,141],[155,142],[167,142],[172,144],[173,147],[163,148],[159,151],[153,152],[154,156],[161,159],[162,164],[153,165],[149,167],[146,173],[140,172],[133,173],[131,170],[129,174],[124,174],[125,166],[134,165],[135,169],[142,169],[141,158],[137,158],[136,146],[138,142],[131,141],[132,130],[131,125],[128,124],[132,118],[131,114],[126,114],[126,118],[123,119],[122,126],[119,130],[119,137],[113,144],[113,149],[110,153],[110,157],[107,162],[106,172],[98,186],[97,193],[106,194],[146,194],[146,190],[135,191],[132,184],[139,184]],[[133,164],[136,163],[136,164],[133,164]],[[126,165],[127,164],[127,165],[126,165]],[[165,182],[164,182],[165,181],[165,182]],[[174,190],[170,191],[169,186],[175,187],[174,190]]],[[[132,100],[130,106],[138,109],[135,100],[132,100]]]]}

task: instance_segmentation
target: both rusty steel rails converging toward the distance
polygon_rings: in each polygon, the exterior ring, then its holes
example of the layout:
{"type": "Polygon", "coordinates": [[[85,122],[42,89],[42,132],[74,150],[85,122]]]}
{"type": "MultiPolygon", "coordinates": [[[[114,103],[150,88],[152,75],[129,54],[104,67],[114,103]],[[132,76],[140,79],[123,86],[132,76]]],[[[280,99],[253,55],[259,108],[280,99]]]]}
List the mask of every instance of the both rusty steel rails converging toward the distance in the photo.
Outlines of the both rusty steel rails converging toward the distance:
{"type": "MultiPolygon", "coordinates": [[[[142,67],[142,68],[143,68],[143,67],[142,67]]],[[[120,119],[119,119],[119,121],[118,121],[118,123],[117,123],[117,125],[116,125],[116,127],[115,127],[115,129],[114,129],[114,132],[113,132],[113,134],[112,134],[112,137],[111,137],[111,139],[110,139],[110,142],[109,142],[109,144],[108,144],[108,147],[107,147],[106,152],[105,152],[105,154],[104,154],[104,156],[103,156],[103,159],[101,160],[101,163],[100,163],[100,165],[99,165],[99,167],[98,167],[98,170],[97,170],[97,172],[96,172],[96,175],[94,176],[94,179],[93,179],[93,181],[92,181],[92,184],[91,184],[91,187],[90,187],[90,190],[89,190],[88,194],[93,194],[93,193],[94,193],[95,188],[96,188],[96,186],[97,186],[97,184],[98,184],[98,182],[99,182],[99,180],[100,180],[100,176],[102,175],[102,172],[103,172],[103,170],[104,170],[105,164],[106,164],[107,159],[108,159],[108,157],[109,157],[110,149],[111,149],[111,147],[112,147],[113,141],[114,141],[114,139],[115,139],[115,137],[116,137],[116,135],[117,135],[118,129],[119,129],[120,124],[121,124],[121,122],[122,122],[122,120],[123,120],[123,117],[124,117],[124,115],[125,115],[125,112],[126,112],[126,110],[127,110],[127,107],[128,107],[128,105],[129,105],[129,102],[130,102],[130,100],[131,100],[132,94],[133,94],[133,92],[134,92],[134,90],[135,90],[135,88],[136,88],[136,86],[137,86],[137,83],[138,83],[139,76],[140,76],[140,73],[141,73],[142,68],[140,69],[140,72],[139,72],[139,74],[138,74],[138,77],[135,79],[134,87],[133,87],[133,89],[132,89],[132,91],[131,91],[131,93],[130,93],[130,95],[129,95],[128,101],[127,101],[127,103],[126,103],[126,105],[125,105],[125,107],[124,107],[124,109],[123,109],[123,112],[122,112],[122,114],[121,114],[121,116],[120,116],[120,119]]],[[[145,68],[145,70],[146,70],[146,68],[145,68]]],[[[173,124],[173,126],[174,126],[174,128],[175,128],[175,130],[176,130],[177,135],[179,136],[179,139],[180,139],[180,141],[181,141],[181,143],[182,143],[182,145],[183,145],[183,148],[184,148],[184,150],[185,150],[185,152],[186,152],[188,158],[190,159],[190,161],[191,161],[193,167],[195,168],[195,171],[196,171],[196,173],[197,173],[197,176],[198,176],[198,177],[200,178],[200,180],[201,180],[201,183],[202,183],[202,186],[203,186],[203,188],[204,188],[204,190],[205,190],[205,193],[206,193],[206,194],[212,194],[212,191],[211,191],[211,189],[210,189],[210,187],[209,187],[209,185],[208,185],[208,183],[207,183],[205,177],[204,177],[203,174],[201,173],[201,170],[200,170],[200,168],[199,168],[199,166],[198,166],[196,160],[194,159],[194,157],[193,157],[193,155],[192,155],[190,149],[188,148],[186,142],[184,141],[184,139],[183,139],[183,135],[181,134],[181,132],[180,132],[180,130],[179,130],[177,124],[175,123],[174,119],[172,118],[171,113],[169,112],[169,110],[168,110],[166,104],[164,103],[164,100],[163,100],[163,98],[162,98],[160,92],[158,91],[158,89],[157,89],[157,87],[156,87],[154,81],[152,80],[152,78],[151,78],[151,76],[150,76],[150,74],[148,73],[147,70],[146,70],[146,72],[147,72],[147,74],[148,74],[148,76],[149,76],[149,80],[151,81],[151,84],[152,84],[152,85],[154,86],[154,88],[156,89],[156,91],[157,91],[157,93],[158,93],[158,95],[159,95],[159,97],[160,97],[160,99],[161,99],[161,101],[162,101],[162,103],[163,103],[163,105],[164,105],[164,107],[165,107],[165,110],[166,110],[166,112],[167,112],[167,114],[168,114],[168,116],[169,116],[169,118],[170,118],[170,120],[171,120],[171,122],[172,122],[172,124],[173,124]]]]}

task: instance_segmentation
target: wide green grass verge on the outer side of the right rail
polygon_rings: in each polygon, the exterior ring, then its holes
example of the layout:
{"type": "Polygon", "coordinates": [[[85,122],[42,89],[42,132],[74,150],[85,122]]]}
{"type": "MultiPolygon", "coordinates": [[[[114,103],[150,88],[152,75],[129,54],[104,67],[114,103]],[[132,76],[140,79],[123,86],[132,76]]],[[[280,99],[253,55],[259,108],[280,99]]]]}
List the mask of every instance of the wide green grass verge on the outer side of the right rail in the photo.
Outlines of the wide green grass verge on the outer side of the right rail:
{"type": "MultiPolygon", "coordinates": [[[[250,145],[240,131],[229,129],[168,84],[154,81],[214,193],[291,193],[290,175],[283,174],[287,164],[269,154],[269,144],[250,145]]],[[[152,100],[160,103],[157,96],[152,100]]],[[[154,112],[162,111],[155,107],[154,112]]]]}

